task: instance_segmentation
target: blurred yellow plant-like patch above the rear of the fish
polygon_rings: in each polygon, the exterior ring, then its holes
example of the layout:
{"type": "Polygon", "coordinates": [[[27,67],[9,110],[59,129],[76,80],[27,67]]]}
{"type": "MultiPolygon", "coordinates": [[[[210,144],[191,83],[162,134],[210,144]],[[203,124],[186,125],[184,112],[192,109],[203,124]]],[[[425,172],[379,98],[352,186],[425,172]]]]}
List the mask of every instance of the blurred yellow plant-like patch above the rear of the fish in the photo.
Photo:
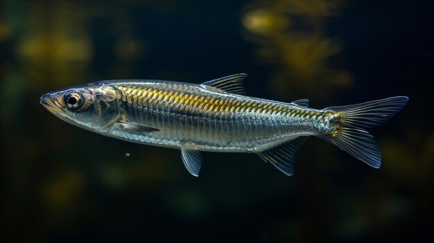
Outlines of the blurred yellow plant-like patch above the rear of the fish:
{"type": "Polygon", "coordinates": [[[337,0],[254,1],[243,15],[245,35],[259,44],[256,54],[273,64],[270,86],[277,95],[327,100],[346,89],[352,77],[330,66],[329,58],[340,51],[336,39],[324,35],[327,17],[340,6],[337,0]]]}

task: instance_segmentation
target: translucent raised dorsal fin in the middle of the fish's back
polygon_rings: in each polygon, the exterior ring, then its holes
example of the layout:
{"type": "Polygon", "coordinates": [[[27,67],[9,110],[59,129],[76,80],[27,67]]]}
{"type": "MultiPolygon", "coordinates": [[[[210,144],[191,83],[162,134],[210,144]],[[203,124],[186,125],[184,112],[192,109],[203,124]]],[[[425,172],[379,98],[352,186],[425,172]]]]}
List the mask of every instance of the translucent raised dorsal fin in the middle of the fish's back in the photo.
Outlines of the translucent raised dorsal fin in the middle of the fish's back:
{"type": "Polygon", "coordinates": [[[245,89],[243,87],[243,80],[245,79],[245,77],[247,77],[247,74],[238,73],[227,77],[218,78],[216,80],[202,82],[201,85],[214,87],[227,93],[243,95],[245,94],[245,89]]]}

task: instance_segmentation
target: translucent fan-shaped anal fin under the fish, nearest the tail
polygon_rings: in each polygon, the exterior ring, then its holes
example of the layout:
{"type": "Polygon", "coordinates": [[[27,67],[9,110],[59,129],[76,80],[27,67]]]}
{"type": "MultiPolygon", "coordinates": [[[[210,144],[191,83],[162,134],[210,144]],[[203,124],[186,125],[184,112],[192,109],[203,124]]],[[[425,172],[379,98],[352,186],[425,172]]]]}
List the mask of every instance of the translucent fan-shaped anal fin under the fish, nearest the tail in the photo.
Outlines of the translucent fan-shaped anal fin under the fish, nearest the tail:
{"type": "Polygon", "coordinates": [[[275,165],[281,172],[292,176],[294,174],[294,154],[302,147],[307,138],[308,136],[300,136],[287,143],[259,152],[258,155],[264,161],[275,165]]]}

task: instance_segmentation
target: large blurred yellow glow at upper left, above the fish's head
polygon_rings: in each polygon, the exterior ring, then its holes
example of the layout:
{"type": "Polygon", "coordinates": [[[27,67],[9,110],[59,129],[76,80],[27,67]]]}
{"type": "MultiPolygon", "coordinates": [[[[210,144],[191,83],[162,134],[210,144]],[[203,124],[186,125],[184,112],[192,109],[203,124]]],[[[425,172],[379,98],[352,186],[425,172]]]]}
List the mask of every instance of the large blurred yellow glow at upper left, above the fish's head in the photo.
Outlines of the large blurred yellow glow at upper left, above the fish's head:
{"type": "Polygon", "coordinates": [[[29,2],[26,6],[22,20],[26,28],[14,45],[17,60],[30,75],[48,76],[56,82],[80,80],[94,53],[86,28],[92,16],[76,1],[53,1],[49,7],[29,2]]]}

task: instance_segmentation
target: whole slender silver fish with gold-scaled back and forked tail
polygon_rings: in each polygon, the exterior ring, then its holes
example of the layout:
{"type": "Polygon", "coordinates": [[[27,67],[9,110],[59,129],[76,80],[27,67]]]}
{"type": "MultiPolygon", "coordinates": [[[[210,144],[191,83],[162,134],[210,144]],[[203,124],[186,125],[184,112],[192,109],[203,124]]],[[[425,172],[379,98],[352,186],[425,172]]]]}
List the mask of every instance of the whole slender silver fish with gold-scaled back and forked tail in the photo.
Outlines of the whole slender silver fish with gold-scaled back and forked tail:
{"type": "Polygon", "coordinates": [[[309,100],[278,102],[245,95],[239,73],[201,84],[105,80],[44,94],[40,103],[61,120],[123,141],[181,150],[198,177],[202,152],[258,154],[286,175],[307,138],[336,145],[373,168],[379,145],[366,129],[385,122],[406,96],[312,109],[309,100]]]}

